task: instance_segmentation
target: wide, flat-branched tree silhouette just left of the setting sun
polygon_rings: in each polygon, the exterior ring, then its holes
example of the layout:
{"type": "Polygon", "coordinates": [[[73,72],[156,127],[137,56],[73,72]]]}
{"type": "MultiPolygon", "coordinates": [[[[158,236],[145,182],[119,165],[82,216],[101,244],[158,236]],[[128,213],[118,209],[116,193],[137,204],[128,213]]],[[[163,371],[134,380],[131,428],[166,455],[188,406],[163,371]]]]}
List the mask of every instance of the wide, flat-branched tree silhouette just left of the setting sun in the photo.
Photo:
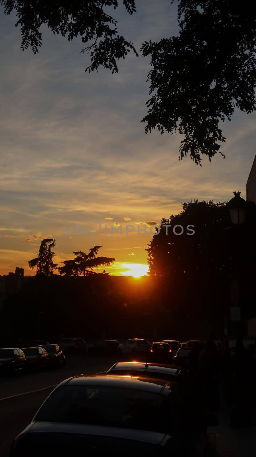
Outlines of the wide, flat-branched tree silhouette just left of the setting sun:
{"type": "Polygon", "coordinates": [[[63,266],[58,268],[60,275],[65,276],[89,276],[94,274],[93,268],[98,268],[100,265],[108,266],[115,262],[112,257],[96,257],[102,246],[94,246],[86,254],[82,251],[75,251],[76,256],[72,260],[64,260],[63,266]]]}

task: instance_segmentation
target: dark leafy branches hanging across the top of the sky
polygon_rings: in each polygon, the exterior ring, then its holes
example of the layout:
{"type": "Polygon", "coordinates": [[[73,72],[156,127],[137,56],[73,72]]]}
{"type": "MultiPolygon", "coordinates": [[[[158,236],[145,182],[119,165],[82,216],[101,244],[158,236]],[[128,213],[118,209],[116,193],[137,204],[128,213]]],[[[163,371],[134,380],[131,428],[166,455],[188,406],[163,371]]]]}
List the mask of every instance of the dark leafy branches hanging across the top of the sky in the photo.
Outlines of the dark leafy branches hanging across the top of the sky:
{"type": "MultiPolygon", "coordinates": [[[[173,3],[174,0],[172,0],[173,3]]],[[[145,132],[157,128],[184,136],[179,158],[190,154],[197,165],[202,155],[209,160],[225,142],[219,121],[230,121],[235,108],[256,110],[256,16],[253,2],[234,0],[177,0],[179,35],[157,43],[145,41],[143,56],[151,57],[148,74],[145,132]]],[[[134,0],[123,0],[127,12],[136,11],[134,0]]],[[[90,53],[91,64],[117,72],[117,60],[131,50],[131,42],[118,34],[117,22],[104,11],[118,6],[118,0],[45,2],[0,0],[5,14],[16,10],[21,26],[21,48],[34,53],[42,45],[42,24],[68,40],[80,36],[90,53]]]]}

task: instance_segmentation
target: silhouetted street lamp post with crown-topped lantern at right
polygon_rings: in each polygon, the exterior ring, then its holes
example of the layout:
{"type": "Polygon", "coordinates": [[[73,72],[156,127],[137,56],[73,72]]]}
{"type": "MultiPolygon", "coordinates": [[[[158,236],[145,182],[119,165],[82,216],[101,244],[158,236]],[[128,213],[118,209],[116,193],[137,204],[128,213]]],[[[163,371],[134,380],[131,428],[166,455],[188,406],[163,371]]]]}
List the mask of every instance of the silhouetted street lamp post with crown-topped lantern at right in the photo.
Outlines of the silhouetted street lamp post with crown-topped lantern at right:
{"type": "MultiPolygon", "coordinates": [[[[241,295],[241,284],[240,284],[240,266],[241,266],[241,228],[245,223],[246,219],[246,201],[240,197],[241,192],[234,192],[234,197],[227,203],[227,208],[230,211],[230,218],[232,223],[232,238],[234,251],[234,272],[233,280],[231,282],[230,299],[232,306],[230,307],[230,320],[236,322],[237,337],[241,336],[241,313],[240,313],[240,295],[241,295]]],[[[226,319],[227,321],[228,319],[226,319]]]]}

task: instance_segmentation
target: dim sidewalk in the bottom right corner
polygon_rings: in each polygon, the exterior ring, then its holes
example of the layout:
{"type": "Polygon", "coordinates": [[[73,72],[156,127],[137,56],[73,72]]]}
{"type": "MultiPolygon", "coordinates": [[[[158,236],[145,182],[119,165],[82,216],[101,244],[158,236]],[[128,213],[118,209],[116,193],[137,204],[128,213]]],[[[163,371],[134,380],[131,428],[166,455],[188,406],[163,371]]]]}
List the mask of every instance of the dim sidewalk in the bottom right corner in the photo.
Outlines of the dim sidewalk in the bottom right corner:
{"type": "Polygon", "coordinates": [[[219,409],[217,416],[219,425],[208,428],[209,457],[255,457],[256,415],[249,428],[230,427],[228,410],[219,409]]]}

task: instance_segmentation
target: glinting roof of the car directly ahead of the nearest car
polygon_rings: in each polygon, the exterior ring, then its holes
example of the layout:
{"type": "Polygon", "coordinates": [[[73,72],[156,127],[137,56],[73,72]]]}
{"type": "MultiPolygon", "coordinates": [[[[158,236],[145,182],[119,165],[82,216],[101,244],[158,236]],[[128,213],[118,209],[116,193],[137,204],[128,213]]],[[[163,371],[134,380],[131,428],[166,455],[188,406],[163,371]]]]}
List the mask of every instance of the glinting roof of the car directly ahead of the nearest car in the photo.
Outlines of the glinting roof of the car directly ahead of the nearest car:
{"type": "Polygon", "coordinates": [[[142,371],[142,372],[155,372],[159,374],[170,374],[170,375],[177,375],[181,367],[177,367],[176,365],[167,365],[163,363],[143,363],[143,362],[116,362],[110,370],[118,372],[119,370],[135,370],[135,371],[142,371]]]}

